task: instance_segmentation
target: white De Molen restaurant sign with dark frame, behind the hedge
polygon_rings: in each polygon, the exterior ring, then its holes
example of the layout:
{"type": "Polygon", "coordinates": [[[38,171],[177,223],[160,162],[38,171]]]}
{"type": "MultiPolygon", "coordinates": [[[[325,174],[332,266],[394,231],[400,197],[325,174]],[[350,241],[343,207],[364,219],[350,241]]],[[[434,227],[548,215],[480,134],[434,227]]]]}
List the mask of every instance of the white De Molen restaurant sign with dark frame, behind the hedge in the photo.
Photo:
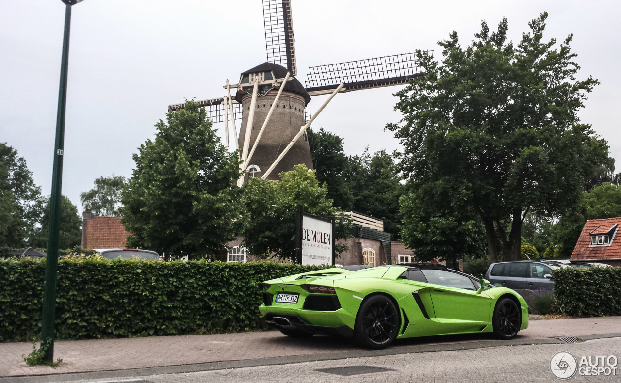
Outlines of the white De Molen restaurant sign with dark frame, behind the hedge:
{"type": "Polygon", "coordinates": [[[296,253],[300,264],[334,264],[334,219],[297,207],[296,253]]]}

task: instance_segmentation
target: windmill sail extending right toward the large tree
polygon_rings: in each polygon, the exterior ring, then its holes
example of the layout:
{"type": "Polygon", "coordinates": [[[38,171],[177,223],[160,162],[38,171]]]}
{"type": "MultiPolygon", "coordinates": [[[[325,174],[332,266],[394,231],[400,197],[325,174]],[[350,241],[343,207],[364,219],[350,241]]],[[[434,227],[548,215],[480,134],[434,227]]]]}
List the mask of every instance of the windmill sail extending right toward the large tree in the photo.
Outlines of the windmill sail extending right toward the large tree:
{"type": "MultiPolygon", "coordinates": [[[[429,51],[432,53],[432,51],[429,51]]],[[[366,58],[365,60],[311,66],[305,83],[311,96],[328,94],[345,83],[345,92],[406,84],[422,75],[416,53],[366,58]]]]}

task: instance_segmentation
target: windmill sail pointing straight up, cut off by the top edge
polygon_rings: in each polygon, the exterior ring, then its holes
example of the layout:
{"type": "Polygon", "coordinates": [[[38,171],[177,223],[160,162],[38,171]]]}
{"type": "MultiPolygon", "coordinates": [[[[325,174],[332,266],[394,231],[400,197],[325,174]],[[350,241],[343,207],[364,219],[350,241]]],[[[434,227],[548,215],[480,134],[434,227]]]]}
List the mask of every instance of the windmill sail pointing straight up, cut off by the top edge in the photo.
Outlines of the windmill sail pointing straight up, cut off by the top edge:
{"type": "Polygon", "coordinates": [[[270,63],[297,76],[295,38],[289,0],[263,0],[265,47],[270,63]]]}

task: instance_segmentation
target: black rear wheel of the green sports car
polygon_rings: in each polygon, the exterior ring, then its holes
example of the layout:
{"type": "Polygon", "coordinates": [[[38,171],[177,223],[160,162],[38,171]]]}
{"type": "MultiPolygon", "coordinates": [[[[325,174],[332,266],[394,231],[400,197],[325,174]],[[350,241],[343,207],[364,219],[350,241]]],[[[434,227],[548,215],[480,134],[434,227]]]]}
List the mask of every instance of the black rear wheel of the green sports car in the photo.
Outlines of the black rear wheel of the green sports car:
{"type": "Polygon", "coordinates": [[[365,299],[358,309],[353,336],[360,346],[380,349],[389,346],[399,333],[401,315],[397,305],[384,295],[365,299]]]}

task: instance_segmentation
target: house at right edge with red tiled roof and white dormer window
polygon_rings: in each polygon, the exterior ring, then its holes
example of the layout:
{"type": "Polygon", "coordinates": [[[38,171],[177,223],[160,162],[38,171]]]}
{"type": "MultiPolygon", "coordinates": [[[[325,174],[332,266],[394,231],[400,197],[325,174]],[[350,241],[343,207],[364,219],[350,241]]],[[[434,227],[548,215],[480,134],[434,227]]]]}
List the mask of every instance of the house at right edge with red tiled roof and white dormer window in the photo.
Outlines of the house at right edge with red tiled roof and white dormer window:
{"type": "Polygon", "coordinates": [[[621,238],[616,234],[621,217],[587,220],[569,261],[621,266],[621,238]]]}

